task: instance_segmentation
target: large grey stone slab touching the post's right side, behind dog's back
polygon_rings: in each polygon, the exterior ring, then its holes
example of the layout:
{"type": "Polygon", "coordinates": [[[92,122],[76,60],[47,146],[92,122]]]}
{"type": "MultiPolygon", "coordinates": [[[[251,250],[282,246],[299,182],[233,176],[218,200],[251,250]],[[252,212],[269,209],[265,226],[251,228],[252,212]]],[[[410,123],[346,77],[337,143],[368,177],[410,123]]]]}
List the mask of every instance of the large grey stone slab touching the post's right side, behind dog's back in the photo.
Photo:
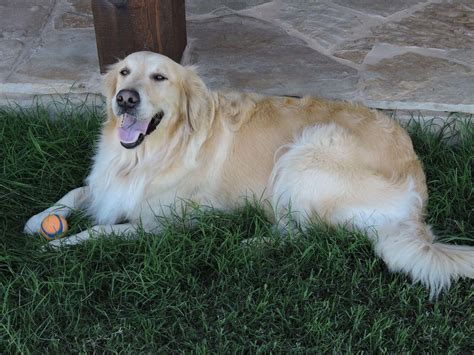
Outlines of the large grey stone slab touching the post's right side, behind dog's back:
{"type": "Polygon", "coordinates": [[[353,99],[358,73],[256,19],[230,15],[188,23],[187,63],[212,89],[353,99]]]}

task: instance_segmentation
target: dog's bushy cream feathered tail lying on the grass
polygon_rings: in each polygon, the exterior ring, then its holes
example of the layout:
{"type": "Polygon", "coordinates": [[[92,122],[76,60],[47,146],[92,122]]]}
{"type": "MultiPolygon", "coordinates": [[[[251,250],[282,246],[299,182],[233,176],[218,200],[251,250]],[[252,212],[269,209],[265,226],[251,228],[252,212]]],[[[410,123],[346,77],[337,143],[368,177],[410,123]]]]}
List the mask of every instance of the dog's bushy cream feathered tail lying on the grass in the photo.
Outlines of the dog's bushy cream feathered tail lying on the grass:
{"type": "Polygon", "coordinates": [[[377,228],[375,251],[391,271],[425,285],[431,299],[458,278],[474,278],[474,247],[437,243],[430,227],[420,221],[377,228]]]}

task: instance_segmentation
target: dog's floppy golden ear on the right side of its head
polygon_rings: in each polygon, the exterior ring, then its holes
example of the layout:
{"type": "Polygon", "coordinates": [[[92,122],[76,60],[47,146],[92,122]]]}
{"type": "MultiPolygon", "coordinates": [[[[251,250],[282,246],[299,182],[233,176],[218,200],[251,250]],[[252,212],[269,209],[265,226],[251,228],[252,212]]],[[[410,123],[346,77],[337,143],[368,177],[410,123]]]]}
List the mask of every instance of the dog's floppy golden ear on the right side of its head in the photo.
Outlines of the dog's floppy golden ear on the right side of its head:
{"type": "Polygon", "coordinates": [[[195,67],[186,67],[183,89],[186,124],[191,131],[199,131],[212,120],[212,102],[209,89],[196,73],[195,67]]]}

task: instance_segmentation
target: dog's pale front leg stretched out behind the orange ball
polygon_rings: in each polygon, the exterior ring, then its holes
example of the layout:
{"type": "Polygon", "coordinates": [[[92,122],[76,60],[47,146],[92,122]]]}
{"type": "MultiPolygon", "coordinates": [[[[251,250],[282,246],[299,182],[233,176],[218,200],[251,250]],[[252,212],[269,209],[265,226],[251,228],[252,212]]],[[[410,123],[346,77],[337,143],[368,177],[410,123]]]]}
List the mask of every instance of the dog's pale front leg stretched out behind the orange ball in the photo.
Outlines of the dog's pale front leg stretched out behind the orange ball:
{"type": "Polygon", "coordinates": [[[24,232],[30,235],[39,233],[41,222],[46,216],[52,213],[67,218],[73,210],[79,210],[84,207],[88,194],[89,188],[87,186],[78,187],[77,189],[69,191],[53,206],[31,217],[28,222],[26,222],[24,232]]]}

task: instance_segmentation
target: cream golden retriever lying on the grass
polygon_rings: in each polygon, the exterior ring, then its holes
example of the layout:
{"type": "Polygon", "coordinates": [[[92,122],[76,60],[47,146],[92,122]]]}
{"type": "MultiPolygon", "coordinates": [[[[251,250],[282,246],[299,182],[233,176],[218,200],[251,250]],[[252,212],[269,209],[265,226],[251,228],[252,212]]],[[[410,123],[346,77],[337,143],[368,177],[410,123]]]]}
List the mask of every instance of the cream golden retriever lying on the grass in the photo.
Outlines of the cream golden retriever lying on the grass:
{"type": "MultiPolygon", "coordinates": [[[[33,216],[27,233],[55,212],[85,209],[94,234],[159,231],[178,201],[221,209],[256,195],[269,218],[322,219],[365,231],[391,271],[437,296],[458,277],[474,277],[474,248],[437,243],[423,221],[425,175],[409,136],[365,107],[305,97],[209,91],[193,68],[139,52],[105,76],[107,120],[86,186],[33,216]],[[125,224],[118,224],[127,222],[125,224]]],[[[178,209],[179,210],[179,209],[178,209]]]]}

